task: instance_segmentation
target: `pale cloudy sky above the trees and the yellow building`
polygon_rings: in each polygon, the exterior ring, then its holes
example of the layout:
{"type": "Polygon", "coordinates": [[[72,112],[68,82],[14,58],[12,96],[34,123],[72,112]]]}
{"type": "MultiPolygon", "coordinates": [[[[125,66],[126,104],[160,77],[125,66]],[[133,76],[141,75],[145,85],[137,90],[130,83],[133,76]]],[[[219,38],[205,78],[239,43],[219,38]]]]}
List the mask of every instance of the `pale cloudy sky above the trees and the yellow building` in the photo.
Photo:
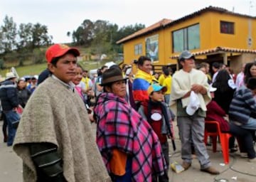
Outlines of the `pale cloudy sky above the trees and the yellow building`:
{"type": "Polygon", "coordinates": [[[4,16],[14,22],[41,23],[54,43],[72,41],[66,36],[82,21],[104,20],[119,27],[142,23],[150,26],[163,18],[175,20],[208,6],[256,16],[256,0],[0,0],[0,25],[4,16]]]}

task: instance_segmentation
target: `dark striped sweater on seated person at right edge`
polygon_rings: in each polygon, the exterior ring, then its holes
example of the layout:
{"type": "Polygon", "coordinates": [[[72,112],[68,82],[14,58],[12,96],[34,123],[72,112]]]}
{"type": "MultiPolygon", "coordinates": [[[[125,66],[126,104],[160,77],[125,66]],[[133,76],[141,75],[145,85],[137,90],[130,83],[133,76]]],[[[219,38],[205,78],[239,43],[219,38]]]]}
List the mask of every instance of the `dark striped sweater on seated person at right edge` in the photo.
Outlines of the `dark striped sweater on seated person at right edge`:
{"type": "Polygon", "coordinates": [[[256,112],[256,102],[252,91],[242,85],[235,91],[233,100],[230,104],[229,117],[231,121],[245,124],[250,119],[250,115],[256,112]]]}

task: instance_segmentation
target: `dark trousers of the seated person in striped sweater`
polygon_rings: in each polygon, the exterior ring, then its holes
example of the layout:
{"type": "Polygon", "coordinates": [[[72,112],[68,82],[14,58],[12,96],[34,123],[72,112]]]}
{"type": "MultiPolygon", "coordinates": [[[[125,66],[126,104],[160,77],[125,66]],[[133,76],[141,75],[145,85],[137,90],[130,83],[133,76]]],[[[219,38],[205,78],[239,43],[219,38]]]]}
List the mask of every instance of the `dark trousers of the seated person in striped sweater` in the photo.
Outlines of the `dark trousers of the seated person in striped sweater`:
{"type": "Polygon", "coordinates": [[[255,158],[256,155],[253,146],[252,131],[250,131],[249,129],[243,129],[240,126],[237,126],[231,122],[230,133],[237,137],[240,152],[247,152],[249,159],[255,158]]]}

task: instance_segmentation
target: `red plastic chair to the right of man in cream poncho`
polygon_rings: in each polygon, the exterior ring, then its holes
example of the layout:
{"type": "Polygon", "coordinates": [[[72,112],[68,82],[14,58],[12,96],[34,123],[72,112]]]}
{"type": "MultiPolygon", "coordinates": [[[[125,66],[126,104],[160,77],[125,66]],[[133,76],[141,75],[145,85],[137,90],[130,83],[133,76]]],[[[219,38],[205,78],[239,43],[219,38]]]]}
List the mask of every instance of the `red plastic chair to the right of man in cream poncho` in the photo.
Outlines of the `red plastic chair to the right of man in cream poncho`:
{"type": "Polygon", "coordinates": [[[205,136],[204,136],[205,144],[207,144],[208,137],[212,137],[213,139],[213,152],[217,151],[217,137],[219,137],[224,163],[228,164],[229,163],[228,141],[231,137],[231,134],[221,132],[220,124],[218,122],[206,121],[205,136]]]}

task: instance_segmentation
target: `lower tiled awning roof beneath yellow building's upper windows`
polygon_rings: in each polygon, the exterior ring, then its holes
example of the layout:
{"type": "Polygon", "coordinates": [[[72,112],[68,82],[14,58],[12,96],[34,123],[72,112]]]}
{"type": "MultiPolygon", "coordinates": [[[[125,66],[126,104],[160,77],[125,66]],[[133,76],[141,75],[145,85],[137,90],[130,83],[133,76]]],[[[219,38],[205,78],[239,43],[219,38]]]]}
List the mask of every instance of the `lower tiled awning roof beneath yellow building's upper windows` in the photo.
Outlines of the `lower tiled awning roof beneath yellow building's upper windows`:
{"type": "MultiPolygon", "coordinates": [[[[206,50],[200,50],[197,52],[191,52],[193,55],[206,55],[210,53],[218,53],[218,52],[228,52],[228,53],[255,53],[255,49],[242,49],[242,48],[227,48],[227,47],[216,47],[216,48],[210,48],[206,50]]],[[[178,59],[179,54],[177,55],[172,55],[170,58],[171,59],[178,59]]]]}

